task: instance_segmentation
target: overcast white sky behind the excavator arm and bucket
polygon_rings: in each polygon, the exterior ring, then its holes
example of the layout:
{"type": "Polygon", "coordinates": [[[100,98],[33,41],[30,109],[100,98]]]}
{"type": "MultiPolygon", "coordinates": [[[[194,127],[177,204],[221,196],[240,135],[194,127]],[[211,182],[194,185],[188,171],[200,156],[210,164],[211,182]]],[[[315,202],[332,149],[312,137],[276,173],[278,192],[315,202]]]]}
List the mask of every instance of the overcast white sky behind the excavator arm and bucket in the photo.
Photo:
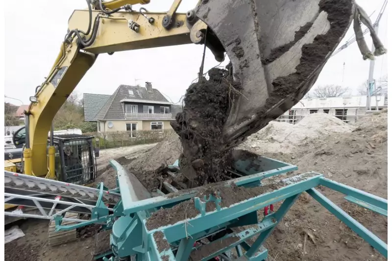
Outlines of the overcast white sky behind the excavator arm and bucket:
{"type": "MultiPolygon", "coordinates": [[[[357,0],[367,11],[372,22],[376,19],[384,0],[357,0]]],[[[177,12],[186,12],[196,5],[197,0],[182,1],[177,12]]],[[[165,12],[172,1],[151,0],[145,5],[149,11],[165,12]]],[[[68,19],[74,9],[85,9],[85,0],[39,0],[20,3],[20,8],[7,9],[5,13],[5,95],[18,98],[28,104],[28,97],[41,85],[49,73],[60,49],[61,41],[68,28],[68,19]],[[25,13],[27,14],[27,13],[25,13]]],[[[136,6],[135,6],[136,7],[136,6]]],[[[136,8],[134,8],[136,9],[136,8]]],[[[139,7],[137,7],[139,9],[139,7]]],[[[385,47],[387,43],[388,7],[381,19],[379,37],[385,47]]],[[[290,21],[288,21],[290,23],[290,21]]],[[[87,26],[86,26],[87,27],[87,26]]],[[[340,45],[353,36],[352,25],[340,45]]],[[[371,41],[366,35],[369,48],[371,41]]],[[[153,88],[177,102],[190,83],[197,77],[203,47],[183,45],[124,51],[112,56],[100,54],[94,66],[86,73],[75,91],[111,95],[120,84],[144,86],[152,82],[153,88]]],[[[227,61],[226,61],[227,62],[227,61]]],[[[217,65],[207,48],[205,71],[217,65]]],[[[387,74],[387,57],[378,57],[374,78],[387,74]]],[[[317,85],[338,84],[352,88],[368,79],[369,61],[362,60],[356,43],[330,58],[316,82],[317,85]],[[343,64],[344,67],[343,67],[343,64]]],[[[14,104],[20,101],[6,99],[14,104]]]]}

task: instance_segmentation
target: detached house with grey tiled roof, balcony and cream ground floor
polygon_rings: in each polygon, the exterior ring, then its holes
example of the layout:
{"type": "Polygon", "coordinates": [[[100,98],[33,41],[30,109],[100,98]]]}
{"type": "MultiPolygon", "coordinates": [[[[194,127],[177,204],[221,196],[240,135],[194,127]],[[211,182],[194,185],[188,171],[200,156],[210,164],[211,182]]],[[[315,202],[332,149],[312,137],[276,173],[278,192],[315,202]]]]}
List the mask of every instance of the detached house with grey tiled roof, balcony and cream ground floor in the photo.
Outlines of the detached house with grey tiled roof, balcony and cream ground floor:
{"type": "Polygon", "coordinates": [[[168,101],[151,83],[146,88],[120,85],[113,95],[83,95],[86,121],[97,121],[98,132],[172,129],[181,106],[168,101]]]}

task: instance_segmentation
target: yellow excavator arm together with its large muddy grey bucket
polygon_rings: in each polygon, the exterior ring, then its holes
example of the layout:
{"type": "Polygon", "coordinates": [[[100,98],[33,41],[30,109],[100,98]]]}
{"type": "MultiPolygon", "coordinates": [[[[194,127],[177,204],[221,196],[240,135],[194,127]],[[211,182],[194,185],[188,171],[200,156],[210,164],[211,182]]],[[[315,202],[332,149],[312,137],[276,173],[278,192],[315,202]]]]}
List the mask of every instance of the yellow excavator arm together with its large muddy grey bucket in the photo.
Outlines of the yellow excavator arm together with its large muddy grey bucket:
{"type": "Polygon", "coordinates": [[[100,53],[205,43],[221,62],[226,52],[241,84],[223,129],[233,146],[309,91],[359,10],[354,0],[199,0],[186,14],[176,13],[181,0],[166,13],[132,9],[148,0],[87,2],[70,17],[56,62],[30,98],[26,174],[48,172],[51,122],[100,53]]]}

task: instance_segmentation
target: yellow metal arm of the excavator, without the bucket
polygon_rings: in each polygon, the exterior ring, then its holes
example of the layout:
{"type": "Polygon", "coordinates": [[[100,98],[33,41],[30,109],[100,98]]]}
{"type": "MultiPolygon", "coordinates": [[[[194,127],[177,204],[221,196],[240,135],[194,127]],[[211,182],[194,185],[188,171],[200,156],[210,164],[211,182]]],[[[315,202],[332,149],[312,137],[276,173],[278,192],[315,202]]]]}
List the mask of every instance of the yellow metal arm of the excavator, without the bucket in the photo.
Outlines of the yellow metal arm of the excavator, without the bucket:
{"type": "MultiPolygon", "coordinates": [[[[113,9],[133,2],[137,1],[115,0],[105,2],[105,7],[113,9]]],[[[192,41],[197,43],[200,40],[194,35],[196,32],[188,29],[185,14],[172,16],[175,24],[170,30],[162,25],[162,20],[167,13],[145,13],[147,17],[154,19],[153,24],[150,24],[139,12],[117,12],[108,16],[93,11],[92,14],[93,20],[98,19],[98,31],[94,43],[82,48],[77,44],[76,37],[73,38],[72,43],[64,42],[47,80],[35,95],[38,101],[30,104],[29,144],[32,172],[36,176],[43,176],[48,172],[47,141],[54,116],[94,64],[99,53],[189,44],[192,41]],[[133,29],[130,28],[132,23],[137,25],[137,30],[135,26],[133,29]],[[190,34],[193,37],[190,37],[190,34]]],[[[69,20],[69,28],[70,30],[84,29],[88,23],[89,11],[75,10],[69,20]]],[[[88,38],[90,35],[85,37],[88,38]]]]}

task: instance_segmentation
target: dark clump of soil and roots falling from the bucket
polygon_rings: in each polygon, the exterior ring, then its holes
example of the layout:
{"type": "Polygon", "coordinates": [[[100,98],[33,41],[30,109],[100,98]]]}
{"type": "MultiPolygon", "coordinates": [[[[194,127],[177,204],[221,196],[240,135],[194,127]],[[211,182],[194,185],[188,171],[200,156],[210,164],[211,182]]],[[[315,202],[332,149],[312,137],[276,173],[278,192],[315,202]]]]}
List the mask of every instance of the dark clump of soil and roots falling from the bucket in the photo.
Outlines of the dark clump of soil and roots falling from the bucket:
{"type": "Polygon", "coordinates": [[[230,147],[221,139],[222,129],[240,89],[231,70],[213,68],[208,75],[188,88],[183,112],[171,122],[183,147],[181,170],[194,187],[222,180],[230,147]]]}

